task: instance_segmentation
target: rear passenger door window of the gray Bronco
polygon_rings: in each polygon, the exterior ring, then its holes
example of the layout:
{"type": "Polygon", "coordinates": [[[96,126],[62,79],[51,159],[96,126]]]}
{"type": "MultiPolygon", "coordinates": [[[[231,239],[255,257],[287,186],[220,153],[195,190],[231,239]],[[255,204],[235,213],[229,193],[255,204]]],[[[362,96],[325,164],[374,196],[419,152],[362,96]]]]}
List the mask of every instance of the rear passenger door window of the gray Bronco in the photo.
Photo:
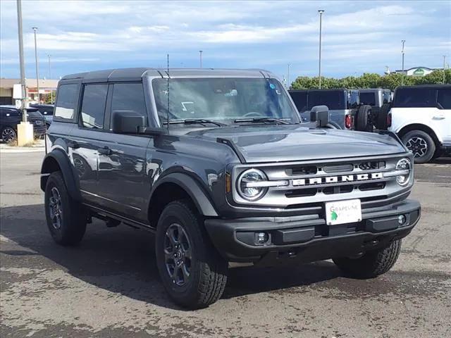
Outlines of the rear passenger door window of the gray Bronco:
{"type": "Polygon", "coordinates": [[[85,128],[104,127],[108,84],[86,84],[83,90],[81,123],[85,128]]]}

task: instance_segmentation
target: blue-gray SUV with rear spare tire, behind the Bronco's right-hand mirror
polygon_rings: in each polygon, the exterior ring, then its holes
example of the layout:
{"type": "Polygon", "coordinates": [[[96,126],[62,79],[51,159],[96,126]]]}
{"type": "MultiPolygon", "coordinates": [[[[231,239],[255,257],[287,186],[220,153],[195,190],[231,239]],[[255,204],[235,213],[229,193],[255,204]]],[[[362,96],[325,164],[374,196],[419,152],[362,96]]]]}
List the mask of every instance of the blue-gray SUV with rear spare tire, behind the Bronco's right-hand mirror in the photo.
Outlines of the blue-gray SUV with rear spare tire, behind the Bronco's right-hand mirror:
{"type": "Polygon", "coordinates": [[[290,90],[290,96],[302,120],[309,120],[314,106],[327,106],[330,123],[345,130],[371,131],[371,106],[360,103],[359,91],[354,89],[290,90]]]}

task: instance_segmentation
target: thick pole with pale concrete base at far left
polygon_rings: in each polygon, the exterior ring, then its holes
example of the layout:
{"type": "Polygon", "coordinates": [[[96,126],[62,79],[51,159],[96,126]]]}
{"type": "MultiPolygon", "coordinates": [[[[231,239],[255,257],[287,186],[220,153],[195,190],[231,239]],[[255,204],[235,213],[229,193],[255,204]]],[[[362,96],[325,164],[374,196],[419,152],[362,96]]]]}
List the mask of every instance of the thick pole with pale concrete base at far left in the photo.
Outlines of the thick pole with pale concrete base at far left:
{"type": "Polygon", "coordinates": [[[17,6],[17,27],[19,38],[19,62],[20,62],[20,87],[22,102],[20,111],[22,113],[22,122],[17,126],[17,144],[23,146],[33,141],[33,125],[27,122],[27,84],[25,84],[25,61],[23,58],[23,32],[22,32],[22,3],[16,0],[17,6]]]}

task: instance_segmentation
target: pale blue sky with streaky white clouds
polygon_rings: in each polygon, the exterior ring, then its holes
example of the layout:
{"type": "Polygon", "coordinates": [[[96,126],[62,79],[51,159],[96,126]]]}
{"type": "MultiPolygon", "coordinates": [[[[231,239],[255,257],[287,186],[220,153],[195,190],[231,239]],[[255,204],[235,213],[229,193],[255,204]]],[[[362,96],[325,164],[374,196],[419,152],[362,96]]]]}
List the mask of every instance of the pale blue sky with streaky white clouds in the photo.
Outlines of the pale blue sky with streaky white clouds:
{"type": "MultiPolygon", "coordinates": [[[[264,68],[290,80],[443,67],[451,1],[22,1],[25,73],[128,67],[264,68]]],[[[16,0],[0,0],[0,77],[20,77],[16,0]]]]}

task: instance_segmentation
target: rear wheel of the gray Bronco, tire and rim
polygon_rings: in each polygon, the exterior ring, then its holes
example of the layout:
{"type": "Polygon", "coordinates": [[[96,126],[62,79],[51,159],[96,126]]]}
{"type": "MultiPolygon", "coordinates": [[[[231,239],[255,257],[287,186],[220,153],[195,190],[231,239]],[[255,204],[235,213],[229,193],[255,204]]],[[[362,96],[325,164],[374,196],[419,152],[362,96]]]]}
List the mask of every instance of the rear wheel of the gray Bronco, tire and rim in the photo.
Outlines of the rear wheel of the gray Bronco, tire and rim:
{"type": "Polygon", "coordinates": [[[51,173],[45,187],[45,216],[54,241],[61,245],[78,244],[86,231],[85,208],[68,194],[63,175],[51,173]]]}

